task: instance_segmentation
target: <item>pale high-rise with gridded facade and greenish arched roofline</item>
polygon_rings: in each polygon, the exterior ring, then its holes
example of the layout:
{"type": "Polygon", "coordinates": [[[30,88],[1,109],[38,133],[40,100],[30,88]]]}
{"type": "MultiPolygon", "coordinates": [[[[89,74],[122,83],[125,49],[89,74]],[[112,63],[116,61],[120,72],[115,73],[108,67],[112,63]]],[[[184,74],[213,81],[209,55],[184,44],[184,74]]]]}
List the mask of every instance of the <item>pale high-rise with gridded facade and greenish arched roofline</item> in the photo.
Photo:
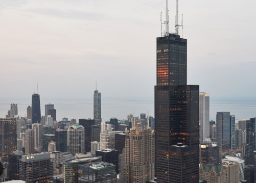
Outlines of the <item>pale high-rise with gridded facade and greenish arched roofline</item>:
{"type": "Polygon", "coordinates": [[[72,154],[84,153],[84,127],[72,125],[67,130],[67,149],[72,154]]]}

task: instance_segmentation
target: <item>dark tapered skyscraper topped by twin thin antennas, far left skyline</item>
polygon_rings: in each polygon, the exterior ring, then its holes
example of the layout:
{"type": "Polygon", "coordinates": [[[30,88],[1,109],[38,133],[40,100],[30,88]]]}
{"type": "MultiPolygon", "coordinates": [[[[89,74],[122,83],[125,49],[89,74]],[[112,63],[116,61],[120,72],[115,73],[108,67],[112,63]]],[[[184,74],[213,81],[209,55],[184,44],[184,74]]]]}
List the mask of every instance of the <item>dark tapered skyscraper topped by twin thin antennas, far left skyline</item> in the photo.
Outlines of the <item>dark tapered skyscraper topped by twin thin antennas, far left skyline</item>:
{"type": "Polygon", "coordinates": [[[40,95],[32,95],[32,123],[41,123],[40,95]]]}

